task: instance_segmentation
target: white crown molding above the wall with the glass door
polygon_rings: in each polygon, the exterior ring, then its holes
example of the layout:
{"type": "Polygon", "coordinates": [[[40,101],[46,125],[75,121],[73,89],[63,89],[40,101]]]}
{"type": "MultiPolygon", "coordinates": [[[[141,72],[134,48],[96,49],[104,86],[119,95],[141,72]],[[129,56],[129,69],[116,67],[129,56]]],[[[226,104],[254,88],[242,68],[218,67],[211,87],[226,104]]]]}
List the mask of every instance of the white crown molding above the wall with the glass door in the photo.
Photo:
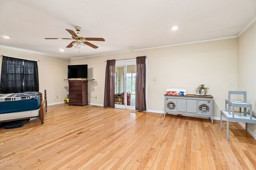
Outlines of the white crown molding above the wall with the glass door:
{"type": "Polygon", "coordinates": [[[230,36],[230,37],[223,37],[223,38],[214,38],[214,39],[209,39],[209,40],[200,40],[200,41],[187,42],[187,43],[176,43],[176,44],[171,44],[171,45],[163,45],[163,46],[157,46],[157,47],[141,48],[141,49],[134,49],[134,50],[130,50],[130,51],[120,51],[120,52],[115,52],[115,53],[105,53],[105,54],[98,54],[98,55],[89,55],[89,56],[75,57],[75,58],[70,58],[70,59],[80,59],[80,58],[96,57],[96,56],[102,56],[102,55],[127,53],[127,52],[133,52],[133,51],[142,51],[142,50],[147,50],[147,49],[172,47],[172,46],[177,46],[177,45],[186,45],[186,44],[193,44],[193,43],[212,42],[212,41],[226,40],[226,39],[231,39],[231,38],[237,38],[237,36],[230,36]]]}

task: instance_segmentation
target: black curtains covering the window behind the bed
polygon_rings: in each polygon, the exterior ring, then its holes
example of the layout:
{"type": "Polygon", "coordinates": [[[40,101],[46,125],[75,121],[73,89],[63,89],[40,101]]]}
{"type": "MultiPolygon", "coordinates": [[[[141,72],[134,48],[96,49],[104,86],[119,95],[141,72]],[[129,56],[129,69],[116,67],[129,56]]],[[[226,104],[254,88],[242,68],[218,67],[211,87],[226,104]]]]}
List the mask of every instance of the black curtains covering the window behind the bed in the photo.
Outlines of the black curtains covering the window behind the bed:
{"type": "Polygon", "coordinates": [[[0,93],[39,91],[37,61],[3,56],[0,93]]]}

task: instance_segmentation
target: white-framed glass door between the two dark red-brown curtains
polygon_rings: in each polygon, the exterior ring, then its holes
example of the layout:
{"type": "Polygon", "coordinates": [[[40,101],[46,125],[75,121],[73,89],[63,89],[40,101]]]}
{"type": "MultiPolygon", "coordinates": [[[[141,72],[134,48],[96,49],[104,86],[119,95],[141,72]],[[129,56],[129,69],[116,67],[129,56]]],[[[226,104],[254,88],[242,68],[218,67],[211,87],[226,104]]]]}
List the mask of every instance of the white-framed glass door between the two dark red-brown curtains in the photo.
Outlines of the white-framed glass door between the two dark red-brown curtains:
{"type": "Polygon", "coordinates": [[[136,60],[116,61],[115,107],[135,110],[136,60]]]}

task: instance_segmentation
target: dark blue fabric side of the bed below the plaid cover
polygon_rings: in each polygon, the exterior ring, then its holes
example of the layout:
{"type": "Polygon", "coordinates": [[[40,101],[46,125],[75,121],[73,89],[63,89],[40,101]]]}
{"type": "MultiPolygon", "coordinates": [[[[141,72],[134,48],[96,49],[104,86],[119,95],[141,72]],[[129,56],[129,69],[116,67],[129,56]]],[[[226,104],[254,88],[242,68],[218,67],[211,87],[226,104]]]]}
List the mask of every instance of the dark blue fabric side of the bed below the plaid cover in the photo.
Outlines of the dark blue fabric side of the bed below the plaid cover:
{"type": "Polygon", "coordinates": [[[34,99],[0,102],[0,114],[32,111],[40,108],[40,95],[34,99]]]}

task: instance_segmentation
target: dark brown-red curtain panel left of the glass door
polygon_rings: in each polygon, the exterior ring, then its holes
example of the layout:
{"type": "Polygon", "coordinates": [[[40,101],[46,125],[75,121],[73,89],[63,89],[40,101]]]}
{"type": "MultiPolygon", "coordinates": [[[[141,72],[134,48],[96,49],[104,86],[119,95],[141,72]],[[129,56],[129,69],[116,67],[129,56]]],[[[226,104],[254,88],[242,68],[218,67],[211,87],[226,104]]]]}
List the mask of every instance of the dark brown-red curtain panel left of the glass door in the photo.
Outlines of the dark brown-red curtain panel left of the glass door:
{"type": "Polygon", "coordinates": [[[116,60],[107,60],[105,75],[104,107],[115,108],[116,60]]]}

